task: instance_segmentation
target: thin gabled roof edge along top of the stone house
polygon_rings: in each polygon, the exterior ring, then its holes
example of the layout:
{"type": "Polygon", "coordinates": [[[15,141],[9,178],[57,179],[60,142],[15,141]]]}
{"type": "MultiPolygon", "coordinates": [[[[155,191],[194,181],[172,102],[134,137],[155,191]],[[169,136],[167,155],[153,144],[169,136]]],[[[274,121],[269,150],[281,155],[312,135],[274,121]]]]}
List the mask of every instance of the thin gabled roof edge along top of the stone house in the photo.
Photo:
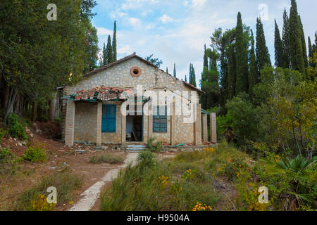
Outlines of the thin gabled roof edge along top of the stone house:
{"type": "MultiPolygon", "coordinates": [[[[109,63],[107,65],[103,65],[101,66],[100,68],[97,68],[96,70],[92,70],[91,72],[87,72],[87,74],[84,75],[84,77],[90,77],[98,72],[101,72],[103,70],[106,70],[108,68],[111,68],[113,67],[114,65],[118,65],[120,63],[123,63],[127,60],[130,60],[131,58],[137,58],[138,60],[141,60],[143,63],[147,63],[147,65],[150,65],[158,70],[161,70],[159,69],[156,65],[154,65],[153,63],[150,63],[148,60],[145,60],[144,58],[140,57],[140,56],[137,56],[137,53],[132,53],[130,56],[125,56],[124,58],[120,58],[119,60],[116,60],[115,62],[113,63],[109,63]]],[[[165,72],[164,70],[161,70],[162,72],[165,72]]],[[[168,74],[170,75],[170,74],[168,74]]],[[[173,75],[170,75],[171,77],[174,77],[173,75]]],[[[175,79],[178,79],[177,77],[174,77],[175,79]]],[[[195,89],[196,91],[199,91],[201,94],[206,94],[204,91],[202,91],[201,89],[197,88],[196,86],[192,85],[192,84],[189,84],[183,80],[181,80],[185,85],[189,86],[190,88],[192,89],[195,89]]]]}

